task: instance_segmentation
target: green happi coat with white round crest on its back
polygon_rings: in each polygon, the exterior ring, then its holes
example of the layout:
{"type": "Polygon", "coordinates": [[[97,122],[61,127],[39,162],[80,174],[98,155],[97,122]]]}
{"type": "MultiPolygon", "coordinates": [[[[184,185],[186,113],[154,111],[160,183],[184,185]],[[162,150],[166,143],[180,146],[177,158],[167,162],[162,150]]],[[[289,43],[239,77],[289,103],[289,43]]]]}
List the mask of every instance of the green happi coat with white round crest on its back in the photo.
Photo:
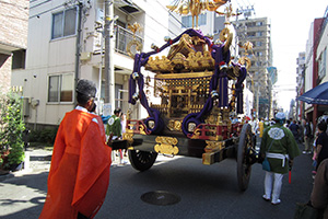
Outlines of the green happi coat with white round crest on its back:
{"type": "Polygon", "coordinates": [[[268,158],[268,161],[271,166],[271,172],[282,174],[288,173],[290,168],[289,159],[293,160],[300,154],[301,152],[298,146],[290,129],[283,127],[279,123],[265,129],[263,137],[261,139],[260,155],[261,158],[268,158]],[[289,157],[289,159],[286,155],[289,157]],[[284,158],[281,159],[270,157],[284,158]]]}

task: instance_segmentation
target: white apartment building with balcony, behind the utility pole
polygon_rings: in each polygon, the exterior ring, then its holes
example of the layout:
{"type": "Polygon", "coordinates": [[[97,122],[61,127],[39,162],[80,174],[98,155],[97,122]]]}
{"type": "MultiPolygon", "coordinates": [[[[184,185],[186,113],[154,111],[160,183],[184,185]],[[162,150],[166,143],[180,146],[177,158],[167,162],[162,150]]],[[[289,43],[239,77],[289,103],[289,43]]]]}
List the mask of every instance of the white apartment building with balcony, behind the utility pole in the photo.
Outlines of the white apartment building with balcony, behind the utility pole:
{"type": "MultiPolygon", "coordinates": [[[[159,0],[113,0],[113,50],[115,107],[143,113],[128,104],[128,79],[133,68],[127,45],[137,39],[143,51],[151,44],[163,45],[168,35],[168,13],[159,0]],[[138,22],[136,35],[128,28],[138,22]]],[[[36,126],[59,125],[66,112],[74,108],[74,83],[84,78],[101,91],[98,107],[105,97],[105,1],[31,0],[25,69],[15,69],[12,85],[23,88],[25,122],[36,126]]],[[[148,76],[148,72],[144,71],[148,76]]]]}

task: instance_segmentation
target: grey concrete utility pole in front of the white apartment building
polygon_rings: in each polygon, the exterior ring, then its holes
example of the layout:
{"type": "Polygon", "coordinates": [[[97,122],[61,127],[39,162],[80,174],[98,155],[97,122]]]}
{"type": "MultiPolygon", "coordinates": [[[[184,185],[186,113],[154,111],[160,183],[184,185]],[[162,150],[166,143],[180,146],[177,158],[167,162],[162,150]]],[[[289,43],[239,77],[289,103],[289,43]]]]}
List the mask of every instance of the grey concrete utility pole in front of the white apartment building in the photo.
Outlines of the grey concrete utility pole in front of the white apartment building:
{"type": "Polygon", "coordinates": [[[114,73],[114,1],[105,0],[105,105],[112,114],[115,107],[115,73],[114,73]]]}

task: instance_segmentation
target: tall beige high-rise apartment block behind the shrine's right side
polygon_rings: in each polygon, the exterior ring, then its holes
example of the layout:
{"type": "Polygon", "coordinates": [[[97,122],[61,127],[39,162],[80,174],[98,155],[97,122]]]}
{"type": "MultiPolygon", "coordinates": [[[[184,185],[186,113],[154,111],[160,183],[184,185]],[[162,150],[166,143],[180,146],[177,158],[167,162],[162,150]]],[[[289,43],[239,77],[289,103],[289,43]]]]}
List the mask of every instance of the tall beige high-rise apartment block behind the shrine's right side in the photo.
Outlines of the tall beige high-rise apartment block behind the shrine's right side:
{"type": "MultiPolygon", "coordinates": [[[[268,118],[272,115],[273,81],[267,68],[272,67],[271,24],[268,18],[245,19],[232,22],[236,28],[238,43],[253,44],[253,51],[248,51],[251,67],[246,78],[246,87],[254,93],[253,110],[258,117],[268,118]]],[[[244,56],[239,49],[238,56],[244,56]]],[[[277,74],[277,71],[276,71],[277,74]]]]}

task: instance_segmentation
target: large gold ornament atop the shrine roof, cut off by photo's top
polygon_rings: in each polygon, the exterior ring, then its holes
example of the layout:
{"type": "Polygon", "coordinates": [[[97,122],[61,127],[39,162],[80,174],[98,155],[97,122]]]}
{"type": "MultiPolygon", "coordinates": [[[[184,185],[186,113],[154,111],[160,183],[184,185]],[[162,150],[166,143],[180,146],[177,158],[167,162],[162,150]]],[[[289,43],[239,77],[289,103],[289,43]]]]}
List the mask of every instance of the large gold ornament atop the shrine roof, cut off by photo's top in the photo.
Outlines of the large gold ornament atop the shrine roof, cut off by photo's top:
{"type": "Polygon", "coordinates": [[[180,15],[191,14],[192,16],[192,28],[195,27],[195,18],[196,18],[196,27],[198,26],[198,15],[202,11],[216,11],[219,7],[225,4],[227,0],[175,0],[173,5],[167,5],[166,8],[169,11],[175,11],[180,15]]]}

